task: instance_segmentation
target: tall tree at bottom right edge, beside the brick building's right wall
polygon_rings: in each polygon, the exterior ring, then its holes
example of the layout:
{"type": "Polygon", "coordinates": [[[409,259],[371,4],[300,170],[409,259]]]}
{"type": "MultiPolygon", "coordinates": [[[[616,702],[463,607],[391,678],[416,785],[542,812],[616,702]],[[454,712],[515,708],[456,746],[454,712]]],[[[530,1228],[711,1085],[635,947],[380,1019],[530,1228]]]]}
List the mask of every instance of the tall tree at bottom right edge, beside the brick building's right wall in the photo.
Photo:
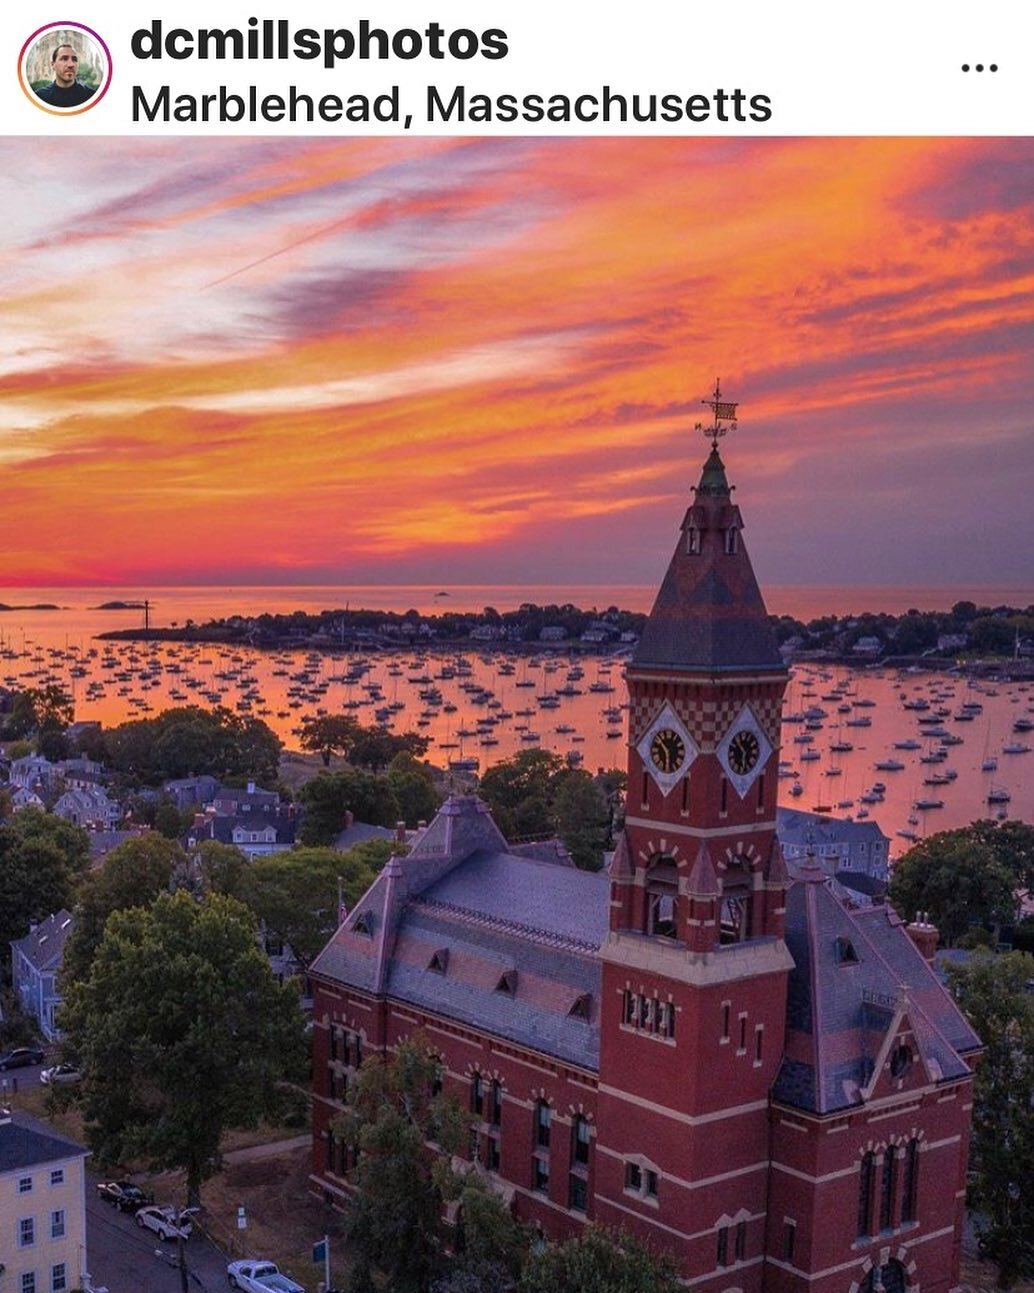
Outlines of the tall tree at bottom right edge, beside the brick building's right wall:
{"type": "Polygon", "coordinates": [[[978,956],[947,967],[984,1042],[973,1082],[969,1201],[999,1285],[1034,1275],[1034,957],[978,956]]]}

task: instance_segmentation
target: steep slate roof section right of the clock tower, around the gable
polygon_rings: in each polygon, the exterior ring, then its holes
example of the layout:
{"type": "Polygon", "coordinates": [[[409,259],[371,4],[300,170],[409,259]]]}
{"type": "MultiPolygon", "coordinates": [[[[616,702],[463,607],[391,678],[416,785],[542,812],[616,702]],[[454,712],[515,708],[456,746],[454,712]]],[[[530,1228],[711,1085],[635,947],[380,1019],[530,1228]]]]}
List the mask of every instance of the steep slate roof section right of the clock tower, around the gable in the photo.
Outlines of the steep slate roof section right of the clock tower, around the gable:
{"type": "Polygon", "coordinates": [[[816,1113],[856,1107],[900,1027],[932,1081],[969,1072],[980,1040],[893,908],[848,909],[812,868],[787,895],[786,944],[795,967],[776,1099],[816,1113]]]}

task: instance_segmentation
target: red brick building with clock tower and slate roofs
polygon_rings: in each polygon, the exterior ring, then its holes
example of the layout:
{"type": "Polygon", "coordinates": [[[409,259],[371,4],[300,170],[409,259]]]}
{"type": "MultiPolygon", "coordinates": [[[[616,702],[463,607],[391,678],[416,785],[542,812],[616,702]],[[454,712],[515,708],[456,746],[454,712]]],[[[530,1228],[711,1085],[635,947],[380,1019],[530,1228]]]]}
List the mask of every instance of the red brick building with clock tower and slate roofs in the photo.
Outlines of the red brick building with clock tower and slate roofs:
{"type": "Polygon", "coordinates": [[[311,966],[313,1187],[348,1192],[350,1072],[420,1028],[547,1235],[626,1227],[706,1293],[946,1293],[980,1042],[936,930],[787,874],[787,675],[741,531],[715,436],[628,667],[610,873],[454,796],[311,966]]]}

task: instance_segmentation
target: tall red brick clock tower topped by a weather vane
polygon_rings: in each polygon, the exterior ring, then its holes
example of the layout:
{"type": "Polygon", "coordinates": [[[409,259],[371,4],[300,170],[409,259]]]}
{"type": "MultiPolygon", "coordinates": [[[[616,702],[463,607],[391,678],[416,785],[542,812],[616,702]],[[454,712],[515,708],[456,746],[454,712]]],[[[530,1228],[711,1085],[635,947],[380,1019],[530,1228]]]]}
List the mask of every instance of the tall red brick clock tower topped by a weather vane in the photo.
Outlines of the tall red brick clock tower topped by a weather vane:
{"type": "Polygon", "coordinates": [[[787,671],[717,447],[735,405],[717,383],[706,403],[711,453],[627,674],[596,1206],[676,1250],[694,1285],[724,1288],[735,1265],[737,1285],[760,1289],[768,1099],[792,967],[776,843],[787,671]]]}

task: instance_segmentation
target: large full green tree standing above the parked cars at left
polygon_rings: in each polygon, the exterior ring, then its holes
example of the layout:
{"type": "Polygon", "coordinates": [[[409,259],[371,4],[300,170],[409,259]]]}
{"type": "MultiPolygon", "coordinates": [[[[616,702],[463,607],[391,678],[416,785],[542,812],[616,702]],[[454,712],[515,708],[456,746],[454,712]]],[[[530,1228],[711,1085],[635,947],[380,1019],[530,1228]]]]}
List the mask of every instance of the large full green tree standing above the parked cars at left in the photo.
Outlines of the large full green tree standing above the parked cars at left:
{"type": "Polygon", "coordinates": [[[191,1202],[222,1133],[277,1116],[304,1067],[297,994],[273,978],[252,914],[221,895],[115,912],[61,1025],[98,1160],[181,1169],[191,1202]]]}

